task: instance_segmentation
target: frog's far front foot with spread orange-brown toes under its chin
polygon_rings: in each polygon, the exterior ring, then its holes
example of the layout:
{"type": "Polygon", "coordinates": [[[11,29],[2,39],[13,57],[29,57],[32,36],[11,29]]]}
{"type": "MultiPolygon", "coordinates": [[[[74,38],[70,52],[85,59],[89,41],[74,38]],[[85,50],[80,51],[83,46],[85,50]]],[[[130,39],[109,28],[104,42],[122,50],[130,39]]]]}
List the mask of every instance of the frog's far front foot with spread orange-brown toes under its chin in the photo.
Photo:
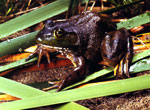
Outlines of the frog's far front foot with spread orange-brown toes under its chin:
{"type": "Polygon", "coordinates": [[[31,53],[27,58],[26,61],[30,60],[31,58],[33,58],[35,55],[38,55],[38,67],[40,65],[42,56],[45,55],[47,57],[47,61],[48,63],[50,63],[50,54],[49,52],[55,52],[55,49],[50,48],[46,45],[42,45],[42,44],[38,44],[36,50],[31,53]]]}

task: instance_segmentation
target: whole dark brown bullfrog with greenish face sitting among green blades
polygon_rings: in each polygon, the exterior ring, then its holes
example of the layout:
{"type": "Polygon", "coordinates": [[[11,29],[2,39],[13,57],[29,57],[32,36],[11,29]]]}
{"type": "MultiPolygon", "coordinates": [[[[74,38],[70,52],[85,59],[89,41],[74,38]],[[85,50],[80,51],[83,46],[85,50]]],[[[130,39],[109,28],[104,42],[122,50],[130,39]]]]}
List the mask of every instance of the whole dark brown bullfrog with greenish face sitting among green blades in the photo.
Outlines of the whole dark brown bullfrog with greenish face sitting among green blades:
{"type": "MultiPolygon", "coordinates": [[[[129,32],[103,15],[84,12],[64,21],[48,20],[36,37],[39,61],[49,51],[57,51],[70,59],[74,70],[54,86],[57,91],[74,83],[86,74],[97,71],[97,64],[104,61],[114,68],[117,77],[129,77],[133,44],[129,32]]],[[[31,55],[31,56],[32,56],[31,55]]]]}

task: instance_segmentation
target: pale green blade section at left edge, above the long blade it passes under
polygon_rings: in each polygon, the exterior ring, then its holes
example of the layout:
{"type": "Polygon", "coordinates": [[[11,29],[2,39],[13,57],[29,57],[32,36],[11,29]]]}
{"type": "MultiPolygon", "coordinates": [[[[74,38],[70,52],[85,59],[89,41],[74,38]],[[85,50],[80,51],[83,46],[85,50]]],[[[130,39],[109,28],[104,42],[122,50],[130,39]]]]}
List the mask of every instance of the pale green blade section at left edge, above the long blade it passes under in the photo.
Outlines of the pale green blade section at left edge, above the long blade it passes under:
{"type": "Polygon", "coordinates": [[[0,77],[0,92],[7,93],[19,98],[35,97],[46,93],[44,91],[32,88],[30,86],[3,77],[0,77]],[[9,85],[9,87],[7,85],[9,85]]]}

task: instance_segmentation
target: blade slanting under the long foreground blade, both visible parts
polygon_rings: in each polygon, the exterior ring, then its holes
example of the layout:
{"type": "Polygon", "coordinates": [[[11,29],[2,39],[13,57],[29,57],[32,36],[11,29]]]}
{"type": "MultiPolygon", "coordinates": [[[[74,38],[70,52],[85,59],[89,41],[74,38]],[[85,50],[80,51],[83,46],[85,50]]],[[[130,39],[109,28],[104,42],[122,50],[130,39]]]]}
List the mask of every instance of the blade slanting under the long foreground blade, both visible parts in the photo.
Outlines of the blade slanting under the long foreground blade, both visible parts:
{"type": "MultiPolygon", "coordinates": [[[[19,97],[21,99],[26,99],[30,97],[35,97],[39,95],[49,94],[47,92],[35,89],[33,87],[18,83],[13,80],[9,80],[3,77],[0,77],[0,92],[10,94],[12,96],[19,97]],[[6,86],[6,85],[9,85],[6,86]]],[[[63,104],[55,108],[56,110],[65,110],[67,108],[72,108],[71,110],[88,110],[86,107],[83,107],[77,103],[70,102],[67,104],[63,104]]]]}

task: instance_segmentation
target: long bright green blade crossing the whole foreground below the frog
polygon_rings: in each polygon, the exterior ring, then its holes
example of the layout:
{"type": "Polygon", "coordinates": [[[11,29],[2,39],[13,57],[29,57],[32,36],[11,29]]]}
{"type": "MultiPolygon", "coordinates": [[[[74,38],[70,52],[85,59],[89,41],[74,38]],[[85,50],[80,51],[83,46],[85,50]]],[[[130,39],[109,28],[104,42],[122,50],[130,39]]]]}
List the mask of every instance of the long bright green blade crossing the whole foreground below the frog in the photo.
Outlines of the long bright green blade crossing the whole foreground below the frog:
{"type": "Polygon", "coordinates": [[[0,104],[0,110],[19,110],[34,107],[60,104],[70,101],[84,100],[102,96],[109,96],[125,92],[132,92],[150,88],[150,75],[107,82],[88,87],[35,96],[28,99],[0,104]]]}

